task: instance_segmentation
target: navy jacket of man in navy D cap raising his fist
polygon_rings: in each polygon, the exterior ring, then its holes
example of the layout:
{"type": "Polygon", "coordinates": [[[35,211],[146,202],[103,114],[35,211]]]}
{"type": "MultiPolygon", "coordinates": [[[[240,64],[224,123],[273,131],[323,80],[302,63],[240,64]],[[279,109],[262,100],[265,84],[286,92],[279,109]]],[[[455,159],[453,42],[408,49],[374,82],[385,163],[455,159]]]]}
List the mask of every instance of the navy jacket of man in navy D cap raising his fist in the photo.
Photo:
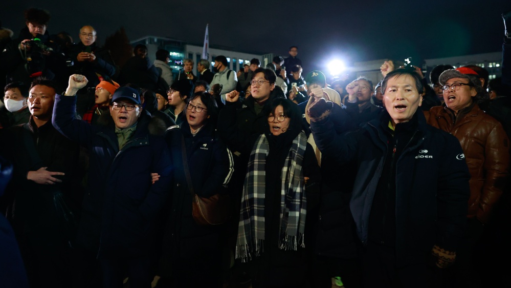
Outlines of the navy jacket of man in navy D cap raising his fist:
{"type": "Polygon", "coordinates": [[[161,136],[149,133],[150,114],[142,111],[137,130],[119,150],[113,119],[91,126],[75,118],[76,96],[56,95],[53,125],[88,148],[87,192],[78,241],[99,257],[147,255],[157,217],[170,193],[171,158],[161,136]],[[151,184],[150,173],[160,179],[151,184]]]}

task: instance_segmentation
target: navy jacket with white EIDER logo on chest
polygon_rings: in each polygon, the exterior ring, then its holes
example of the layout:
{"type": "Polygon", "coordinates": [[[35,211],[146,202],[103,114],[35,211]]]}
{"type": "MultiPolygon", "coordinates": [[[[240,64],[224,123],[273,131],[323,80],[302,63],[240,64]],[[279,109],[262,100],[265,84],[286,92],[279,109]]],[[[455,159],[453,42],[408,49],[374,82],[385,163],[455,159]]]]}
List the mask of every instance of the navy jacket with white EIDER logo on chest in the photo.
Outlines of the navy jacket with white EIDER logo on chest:
{"type": "MultiPolygon", "coordinates": [[[[420,112],[420,111],[419,111],[420,112]]],[[[362,243],[367,243],[371,205],[382,175],[390,134],[390,116],[363,125],[357,131],[332,133],[331,118],[347,118],[334,105],[329,117],[311,122],[311,130],[323,157],[338,164],[356,162],[350,209],[362,243]],[[388,128],[387,128],[388,129],[388,128]]],[[[415,113],[417,127],[396,161],[395,229],[396,263],[425,263],[434,245],[456,251],[466,225],[470,174],[459,141],[449,133],[428,126],[415,113]]],[[[399,124],[397,124],[399,126],[399,124]]]]}

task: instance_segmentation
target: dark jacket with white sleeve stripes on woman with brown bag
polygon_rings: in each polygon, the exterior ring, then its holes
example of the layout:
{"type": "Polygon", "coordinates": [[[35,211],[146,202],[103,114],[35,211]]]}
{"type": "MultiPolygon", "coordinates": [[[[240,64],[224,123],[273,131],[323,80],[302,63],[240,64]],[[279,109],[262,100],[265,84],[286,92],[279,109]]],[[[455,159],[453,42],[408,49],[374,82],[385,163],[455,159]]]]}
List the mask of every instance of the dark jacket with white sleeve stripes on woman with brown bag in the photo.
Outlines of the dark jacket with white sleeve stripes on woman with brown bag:
{"type": "MultiPolygon", "coordinates": [[[[220,228],[224,225],[198,225],[192,217],[192,196],[183,168],[182,138],[184,137],[190,178],[198,196],[211,197],[227,194],[226,189],[234,172],[233,156],[224,142],[216,137],[215,123],[206,124],[195,136],[184,121],[180,128],[169,128],[165,140],[172,153],[174,188],[171,211],[163,241],[166,254],[180,257],[198,257],[218,249],[220,228]]],[[[236,218],[238,215],[232,215],[236,218]]]]}

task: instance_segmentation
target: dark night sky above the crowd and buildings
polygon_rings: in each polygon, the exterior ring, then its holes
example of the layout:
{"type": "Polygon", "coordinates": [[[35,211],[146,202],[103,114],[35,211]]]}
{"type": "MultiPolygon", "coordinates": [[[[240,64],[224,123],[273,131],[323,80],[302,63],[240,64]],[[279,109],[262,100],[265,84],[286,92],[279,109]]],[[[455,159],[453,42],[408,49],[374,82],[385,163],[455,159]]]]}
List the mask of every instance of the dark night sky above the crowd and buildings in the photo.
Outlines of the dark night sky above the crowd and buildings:
{"type": "Polygon", "coordinates": [[[92,25],[99,44],[122,26],[131,40],[154,35],[202,45],[209,23],[211,47],[287,57],[296,45],[310,71],[334,57],[349,65],[501,51],[500,15],[511,1],[10,1],[0,19],[15,37],[28,7],[50,11],[50,33],[69,32],[75,42],[80,27],[92,25]]]}

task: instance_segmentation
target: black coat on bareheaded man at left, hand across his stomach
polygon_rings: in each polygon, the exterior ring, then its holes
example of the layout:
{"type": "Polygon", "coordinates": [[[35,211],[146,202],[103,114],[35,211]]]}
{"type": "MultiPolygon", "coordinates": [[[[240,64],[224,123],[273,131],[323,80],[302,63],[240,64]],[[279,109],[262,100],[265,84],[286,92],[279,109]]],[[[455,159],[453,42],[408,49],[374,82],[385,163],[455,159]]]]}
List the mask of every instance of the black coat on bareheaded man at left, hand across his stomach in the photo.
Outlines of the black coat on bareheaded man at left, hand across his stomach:
{"type": "Polygon", "coordinates": [[[7,217],[13,225],[31,285],[65,287],[71,281],[71,247],[75,243],[74,221],[83,196],[78,163],[79,147],[53,128],[51,122],[37,127],[33,118],[24,125],[3,131],[2,153],[14,166],[4,200],[9,199],[7,217]],[[6,141],[5,139],[9,139],[6,141]],[[64,175],[62,182],[39,184],[28,180],[30,171],[43,167],[64,175]],[[75,217],[65,220],[63,199],[75,217]],[[62,203],[62,202],[60,202],[62,203]]]}

